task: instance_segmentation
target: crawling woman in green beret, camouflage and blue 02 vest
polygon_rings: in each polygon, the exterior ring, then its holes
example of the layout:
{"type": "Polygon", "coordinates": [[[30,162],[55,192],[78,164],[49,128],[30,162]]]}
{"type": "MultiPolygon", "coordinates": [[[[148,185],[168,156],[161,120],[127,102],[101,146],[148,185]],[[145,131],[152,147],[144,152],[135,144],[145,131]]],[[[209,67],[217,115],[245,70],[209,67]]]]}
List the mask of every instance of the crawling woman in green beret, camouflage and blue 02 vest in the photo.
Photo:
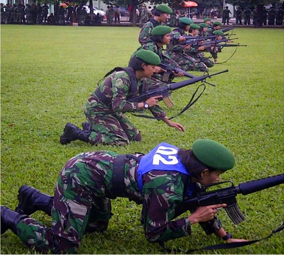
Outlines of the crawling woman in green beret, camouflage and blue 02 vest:
{"type": "Polygon", "coordinates": [[[143,204],[141,224],[149,242],[188,236],[196,223],[226,242],[246,241],[233,239],[215,215],[226,204],[192,207],[191,215],[180,216],[185,199],[196,197],[201,185],[220,181],[234,163],[228,148],[209,139],[195,141],[191,150],[164,142],[146,155],[81,153],[61,170],[54,197],[24,185],[16,212],[1,206],[1,234],[10,229],[37,252],[74,254],[91,222],[101,227],[93,231],[107,229],[110,199],[125,197],[143,204]],[[37,210],[52,215],[51,228],[28,216],[37,210]]]}

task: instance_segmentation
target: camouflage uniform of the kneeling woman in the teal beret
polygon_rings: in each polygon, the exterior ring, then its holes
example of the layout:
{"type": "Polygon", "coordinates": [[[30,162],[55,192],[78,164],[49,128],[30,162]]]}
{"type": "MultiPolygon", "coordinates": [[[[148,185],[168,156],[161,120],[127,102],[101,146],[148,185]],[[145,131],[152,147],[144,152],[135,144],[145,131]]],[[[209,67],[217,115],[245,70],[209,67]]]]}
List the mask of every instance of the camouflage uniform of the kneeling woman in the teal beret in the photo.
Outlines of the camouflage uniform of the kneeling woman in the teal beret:
{"type": "MultiPolygon", "coordinates": [[[[179,29],[174,29],[171,34],[175,37],[185,36],[186,34],[179,29]]],[[[196,64],[198,63],[193,57],[185,54],[185,50],[183,45],[179,44],[177,41],[173,41],[173,48],[170,49],[167,46],[167,54],[174,60],[181,69],[185,71],[193,71],[196,68],[196,64]]]]}

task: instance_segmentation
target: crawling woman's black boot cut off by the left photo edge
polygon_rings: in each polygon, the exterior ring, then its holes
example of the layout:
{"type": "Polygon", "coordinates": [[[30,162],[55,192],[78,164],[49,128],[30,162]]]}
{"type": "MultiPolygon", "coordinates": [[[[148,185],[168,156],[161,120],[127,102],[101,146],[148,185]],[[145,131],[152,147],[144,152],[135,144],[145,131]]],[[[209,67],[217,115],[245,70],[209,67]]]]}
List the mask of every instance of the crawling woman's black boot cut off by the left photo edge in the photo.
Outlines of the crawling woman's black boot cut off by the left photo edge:
{"type": "Polygon", "coordinates": [[[28,215],[22,215],[17,212],[14,212],[6,206],[1,206],[1,231],[3,234],[6,230],[10,229],[12,232],[17,235],[17,225],[20,219],[29,218],[28,215]]]}

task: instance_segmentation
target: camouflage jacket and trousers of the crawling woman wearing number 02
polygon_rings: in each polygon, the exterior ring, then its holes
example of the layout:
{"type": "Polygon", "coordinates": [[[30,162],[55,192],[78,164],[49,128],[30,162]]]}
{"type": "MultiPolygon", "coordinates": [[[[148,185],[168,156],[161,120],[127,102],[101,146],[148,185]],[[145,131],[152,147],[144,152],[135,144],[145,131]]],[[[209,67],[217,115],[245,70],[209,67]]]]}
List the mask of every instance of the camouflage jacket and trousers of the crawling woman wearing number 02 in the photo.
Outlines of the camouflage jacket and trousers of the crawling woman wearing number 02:
{"type": "MultiPolygon", "coordinates": [[[[141,224],[149,242],[163,242],[191,234],[188,217],[173,220],[175,208],[188,198],[184,192],[182,174],[168,170],[149,171],[142,175],[143,186],[139,189],[138,166],[143,156],[138,153],[133,156],[126,155],[120,194],[114,192],[113,182],[117,153],[86,152],[71,158],[57,179],[51,228],[32,218],[23,218],[16,226],[17,236],[26,245],[35,246],[38,252],[51,250],[57,254],[74,254],[92,216],[96,221],[108,223],[111,213],[105,206],[106,202],[118,195],[136,204],[143,204],[141,224]],[[97,209],[95,215],[91,214],[92,206],[97,209]]],[[[198,189],[199,185],[194,185],[198,189]]],[[[194,210],[191,208],[191,211],[194,210]]],[[[216,216],[200,225],[207,234],[222,227],[216,216]]]]}

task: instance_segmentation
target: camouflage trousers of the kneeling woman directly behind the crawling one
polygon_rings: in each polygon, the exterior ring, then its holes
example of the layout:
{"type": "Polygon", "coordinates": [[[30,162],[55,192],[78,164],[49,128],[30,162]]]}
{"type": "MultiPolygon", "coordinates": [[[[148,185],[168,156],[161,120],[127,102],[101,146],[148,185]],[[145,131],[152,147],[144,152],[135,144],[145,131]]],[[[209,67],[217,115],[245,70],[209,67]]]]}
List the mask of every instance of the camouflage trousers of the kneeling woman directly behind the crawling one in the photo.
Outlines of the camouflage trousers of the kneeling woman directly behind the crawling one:
{"type": "Polygon", "coordinates": [[[140,141],[141,134],[123,113],[85,113],[92,130],[89,142],[108,145],[125,145],[130,141],[140,141]]]}

